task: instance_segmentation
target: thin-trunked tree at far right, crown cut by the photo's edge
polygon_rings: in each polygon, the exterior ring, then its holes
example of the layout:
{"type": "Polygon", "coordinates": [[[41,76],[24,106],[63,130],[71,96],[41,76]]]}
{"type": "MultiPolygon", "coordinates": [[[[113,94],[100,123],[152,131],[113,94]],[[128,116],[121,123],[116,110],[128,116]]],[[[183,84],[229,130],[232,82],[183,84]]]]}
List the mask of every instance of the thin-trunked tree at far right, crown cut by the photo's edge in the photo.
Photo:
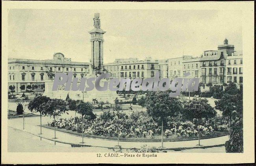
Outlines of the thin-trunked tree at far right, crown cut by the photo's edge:
{"type": "MultiPolygon", "coordinates": [[[[231,91],[230,91],[231,92],[231,91]]],[[[241,106],[243,107],[243,95],[236,94],[236,95],[230,95],[230,94],[224,94],[220,100],[215,101],[215,108],[222,111],[222,115],[229,117],[229,128],[230,128],[230,135],[232,133],[232,115],[234,111],[240,111],[243,110],[241,106]],[[242,99],[242,100],[241,100],[242,99]]]]}

